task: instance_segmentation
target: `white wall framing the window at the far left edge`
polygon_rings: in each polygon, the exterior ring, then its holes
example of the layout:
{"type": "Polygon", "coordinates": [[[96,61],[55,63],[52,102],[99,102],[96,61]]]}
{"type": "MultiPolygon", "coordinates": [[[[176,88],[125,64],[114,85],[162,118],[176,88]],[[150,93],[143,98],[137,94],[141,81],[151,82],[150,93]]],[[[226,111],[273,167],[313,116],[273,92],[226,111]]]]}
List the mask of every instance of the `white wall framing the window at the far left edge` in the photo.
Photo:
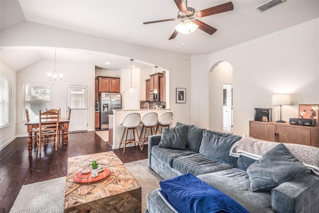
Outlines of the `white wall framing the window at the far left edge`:
{"type": "Polygon", "coordinates": [[[16,72],[0,63],[0,74],[9,79],[9,125],[0,130],[0,148],[3,148],[16,135],[16,72]],[[13,99],[11,91],[15,93],[13,99]]]}

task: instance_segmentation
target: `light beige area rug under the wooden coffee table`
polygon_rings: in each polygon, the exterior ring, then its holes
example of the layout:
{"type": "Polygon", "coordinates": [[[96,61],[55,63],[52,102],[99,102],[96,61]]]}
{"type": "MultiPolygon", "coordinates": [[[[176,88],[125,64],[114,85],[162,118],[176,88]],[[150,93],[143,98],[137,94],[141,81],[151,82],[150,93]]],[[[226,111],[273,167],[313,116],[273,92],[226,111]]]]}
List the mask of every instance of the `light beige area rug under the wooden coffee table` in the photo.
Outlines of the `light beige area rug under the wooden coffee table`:
{"type": "MultiPolygon", "coordinates": [[[[146,196],[160,187],[162,178],[148,167],[148,159],[124,164],[142,187],[142,212],[146,196]]],[[[23,185],[10,213],[62,213],[65,177],[23,185]]]]}

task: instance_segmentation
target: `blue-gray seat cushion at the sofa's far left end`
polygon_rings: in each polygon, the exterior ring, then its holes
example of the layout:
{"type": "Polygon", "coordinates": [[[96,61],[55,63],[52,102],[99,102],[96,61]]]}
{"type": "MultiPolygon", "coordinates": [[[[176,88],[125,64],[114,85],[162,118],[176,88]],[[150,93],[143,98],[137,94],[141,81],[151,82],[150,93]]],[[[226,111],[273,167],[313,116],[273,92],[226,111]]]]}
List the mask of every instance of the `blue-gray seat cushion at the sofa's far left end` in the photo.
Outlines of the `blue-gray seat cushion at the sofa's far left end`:
{"type": "Polygon", "coordinates": [[[156,157],[163,163],[172,167],[172,162],[174,158],[179,156],[191,155],[194,154],[193,151],[190,150],[180,150],[180,149],[167,149],[167,148],[160,148],[159,146],[152,147],[152,156],[156,157]]]}

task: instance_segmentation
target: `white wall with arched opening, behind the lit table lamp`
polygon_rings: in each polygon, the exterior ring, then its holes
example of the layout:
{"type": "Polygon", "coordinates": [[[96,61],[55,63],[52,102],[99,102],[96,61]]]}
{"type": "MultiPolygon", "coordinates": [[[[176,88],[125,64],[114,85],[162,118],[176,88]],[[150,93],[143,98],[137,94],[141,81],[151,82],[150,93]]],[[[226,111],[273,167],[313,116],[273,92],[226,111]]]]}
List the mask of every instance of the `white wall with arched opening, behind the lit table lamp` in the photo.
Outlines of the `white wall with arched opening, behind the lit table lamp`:
{"type": "MultiPolygon", "coordinates": [[[[283,120],[286,121],[298,116],[299,104],[319,103],[318,59],[318,18],[209,54],[208,67],[219,61],[228,61],[233,66],[233,133],[249,134],[249,120],[254,119],[254,108],[257,107],[273,108],[273,120],[278,120],[278,107],[271,105],[272,94],[293,94],[293,105],[283,109],[283,120]]],[[[204,76],[196,75],[200,64],[194,63],[196,61],[192,60],[192,81],[208,78],[210,68],[206,73],[202,72],[204,76]]],[[[203,91],[197,100],[207,98],[208,93],[203,91]]],[[[211,104],[213,100],[209,100],[211,104]]],[[[207,108],[208,105],[203,108],[202,116],[207,108]]],[[[197,112],[197,109],[191,111],[197,112]]],[[[214,126],[222,125],[219,119],[209,122],[214,126]]]]}

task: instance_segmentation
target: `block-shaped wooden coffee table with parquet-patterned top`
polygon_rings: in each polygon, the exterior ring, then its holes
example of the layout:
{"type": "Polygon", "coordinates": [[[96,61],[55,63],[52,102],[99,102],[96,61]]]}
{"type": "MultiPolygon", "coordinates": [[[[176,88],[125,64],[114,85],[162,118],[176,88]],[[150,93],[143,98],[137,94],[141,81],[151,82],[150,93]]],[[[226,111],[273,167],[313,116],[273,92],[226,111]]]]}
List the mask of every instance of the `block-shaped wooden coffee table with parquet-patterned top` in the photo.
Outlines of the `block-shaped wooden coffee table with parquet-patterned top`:
{"type": "Polygon", "coordinates": [[[142,188],[113,152],[68,158],[64,213],[141,213],[142,188]],[[96,183],[77,184],[73,175],[96,160],[110,175],[96,183]]]}

